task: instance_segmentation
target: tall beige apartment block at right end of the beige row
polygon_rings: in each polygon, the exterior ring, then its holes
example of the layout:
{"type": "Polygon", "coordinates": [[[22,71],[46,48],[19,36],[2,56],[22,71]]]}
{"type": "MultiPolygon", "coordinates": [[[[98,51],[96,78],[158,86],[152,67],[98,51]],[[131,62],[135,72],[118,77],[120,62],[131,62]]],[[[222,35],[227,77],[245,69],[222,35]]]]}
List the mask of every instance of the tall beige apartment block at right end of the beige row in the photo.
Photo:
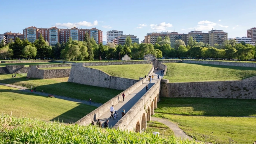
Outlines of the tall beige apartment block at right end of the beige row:
{"type": "Polygon", "coordinates": [[[214,44],[221,45],[225,40],[228,40],[228,33],[223,30],[211,30],[208,31],[209,44],[214,47],[214,44]]]}

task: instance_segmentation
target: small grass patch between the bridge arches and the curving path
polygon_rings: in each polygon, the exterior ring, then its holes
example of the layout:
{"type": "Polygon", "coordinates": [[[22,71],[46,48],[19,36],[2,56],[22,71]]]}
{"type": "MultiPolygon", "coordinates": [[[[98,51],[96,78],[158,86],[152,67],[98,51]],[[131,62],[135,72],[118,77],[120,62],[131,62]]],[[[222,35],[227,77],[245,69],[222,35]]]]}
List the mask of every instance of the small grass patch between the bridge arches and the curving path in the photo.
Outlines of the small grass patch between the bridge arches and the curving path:
{"type": "Polygon", "coordinates": [[[163,138],[168,138],[170,135],[174,135],[174,132],[169,127],[158,121],[148,121],[146,132],[151,134],[153,132],[159,132],[160,136],[163,138]]]}

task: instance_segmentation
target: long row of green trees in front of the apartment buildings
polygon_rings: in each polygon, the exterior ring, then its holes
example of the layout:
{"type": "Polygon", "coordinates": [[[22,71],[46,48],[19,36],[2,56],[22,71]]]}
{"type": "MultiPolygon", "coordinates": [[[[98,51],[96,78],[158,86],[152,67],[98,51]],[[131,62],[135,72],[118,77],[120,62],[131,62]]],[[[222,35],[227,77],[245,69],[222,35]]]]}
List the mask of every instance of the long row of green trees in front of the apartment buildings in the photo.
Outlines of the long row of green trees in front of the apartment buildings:
{"type": "Polygon", "coordinates": [[[225,40],[222,45],[196,42],[189,38],[187,45],[182,40],[176,40],[174,47],[171,47],[170,38],[165,36],[157,38],[157,43],[132,43],[131,37],[127,36],[124,45],[114,43],[97,44],[94,38],[85,33],[85,41],[69,40],[66,43],[56,43],[51,46],[44,40],[43,36],[31,43],[27,39],[16,38],[14,42],[3,45],[0,42],[0,57],[4,58],[26,58],[26,59],[65,59],[65,60],[89,60],[113,59],[120,60],[125,54],[132,59],[143,59],[146,54],[153,54],[157,58],[214,58],[214,59],[240,59],[247,60],[256,57],[256,47],[244,42],[236,43],[235,40],[225,40]]]}

